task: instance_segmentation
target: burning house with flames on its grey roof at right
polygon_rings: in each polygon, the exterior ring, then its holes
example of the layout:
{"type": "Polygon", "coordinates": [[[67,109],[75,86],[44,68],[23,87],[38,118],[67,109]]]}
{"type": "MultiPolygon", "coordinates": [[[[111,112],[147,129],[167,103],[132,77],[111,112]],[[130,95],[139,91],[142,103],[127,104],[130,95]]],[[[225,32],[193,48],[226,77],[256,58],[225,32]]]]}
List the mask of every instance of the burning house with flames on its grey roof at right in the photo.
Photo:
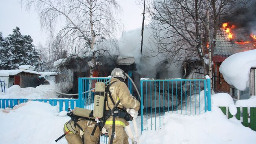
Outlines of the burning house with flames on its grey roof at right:
{"type": "MultiPolygon", "coordinates": [[[[216,46],[213,53],[213,88],[216,92],[230,92],[231,95],[239,95],[235,88],[224,80],[219,72],[221,63],[238,52],[256,49],[256,36],[245,27],[237,27],[231,23],[223,23],[216,37],[216,46]],[[236,93],[236,94],[235,94],[236,93]]],[[[240,94],[249,95],[249,88],[240,94]]]]}

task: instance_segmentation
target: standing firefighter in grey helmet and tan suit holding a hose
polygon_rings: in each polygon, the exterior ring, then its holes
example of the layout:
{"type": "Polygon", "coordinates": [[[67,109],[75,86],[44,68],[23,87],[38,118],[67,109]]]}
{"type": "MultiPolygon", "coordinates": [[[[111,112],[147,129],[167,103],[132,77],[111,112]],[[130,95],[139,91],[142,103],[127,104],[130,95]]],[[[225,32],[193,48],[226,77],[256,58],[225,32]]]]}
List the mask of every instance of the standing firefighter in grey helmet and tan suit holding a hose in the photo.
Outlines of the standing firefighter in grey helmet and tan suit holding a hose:
{"type": "Polygon", "coordinates": [[[130,94],[124,83],[126,75],[120,68],[111,72],[110,84],[107,86],[108,97],[106,112],[110,117],[106,120],[104,128],[108,131],[109,144],[129,144],[128,135],[124,130],[131,121],[129,115],[135,119],[138,115],[140,103],[130,94]],[[124,113],[128,113],[124,117],[124,113]]]}

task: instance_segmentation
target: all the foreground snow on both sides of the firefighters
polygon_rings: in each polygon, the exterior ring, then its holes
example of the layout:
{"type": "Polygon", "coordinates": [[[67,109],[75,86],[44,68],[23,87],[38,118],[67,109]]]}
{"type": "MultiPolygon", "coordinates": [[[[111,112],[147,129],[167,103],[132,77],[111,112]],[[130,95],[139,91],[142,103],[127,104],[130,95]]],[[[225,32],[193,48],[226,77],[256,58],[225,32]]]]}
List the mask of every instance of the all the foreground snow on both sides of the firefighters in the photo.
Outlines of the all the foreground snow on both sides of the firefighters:
{"type": "MultiPolygon", "coordinates": [[[[256,100],[255,96],[252,100],[256,100]]],[[[237,101],[245,106],[250,101],[237,101]]],[[[235,118],[227,119],[217,106],[235,108],[230,95],[212,95],[212,111],[200,115],[180,115],[165,113],[161,128],[152,131],[139,131],[140,144],[254,144],[256,132],[244,127],[235,118]]],[[[30,101],[13,109],[0,109],[0,135],[2,144],[55,144],[63,134],[63,125],[70,118],[67,112],[58,112],[57,106],[30,101]]],[[[145,118],[144,118],[145,120],[145,118]]],[[[136,119],[141,130],[141,119],[136,119]]],[[[132,126],[132,122],[130,122],[132,126]]],[[[103,144],[103,142],[101,142],[103,144]]],[[[65,138],[58,144],[67,144],[65,138]]]]}

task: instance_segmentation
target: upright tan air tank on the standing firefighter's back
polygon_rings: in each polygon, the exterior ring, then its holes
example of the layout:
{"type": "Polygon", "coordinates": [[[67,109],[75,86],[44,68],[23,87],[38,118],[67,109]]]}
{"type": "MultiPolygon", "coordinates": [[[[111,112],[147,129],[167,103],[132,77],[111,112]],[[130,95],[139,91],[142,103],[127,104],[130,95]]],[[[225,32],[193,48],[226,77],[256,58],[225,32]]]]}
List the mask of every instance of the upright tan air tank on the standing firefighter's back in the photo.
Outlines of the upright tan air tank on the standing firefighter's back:
{"type": "Polygon", "coordinates": [[[105,83],[98,81],[95,84],[94,110],[93,110],[94,117],[96,118],[103,117],[104,103],[105,103],[105,83]]]}

